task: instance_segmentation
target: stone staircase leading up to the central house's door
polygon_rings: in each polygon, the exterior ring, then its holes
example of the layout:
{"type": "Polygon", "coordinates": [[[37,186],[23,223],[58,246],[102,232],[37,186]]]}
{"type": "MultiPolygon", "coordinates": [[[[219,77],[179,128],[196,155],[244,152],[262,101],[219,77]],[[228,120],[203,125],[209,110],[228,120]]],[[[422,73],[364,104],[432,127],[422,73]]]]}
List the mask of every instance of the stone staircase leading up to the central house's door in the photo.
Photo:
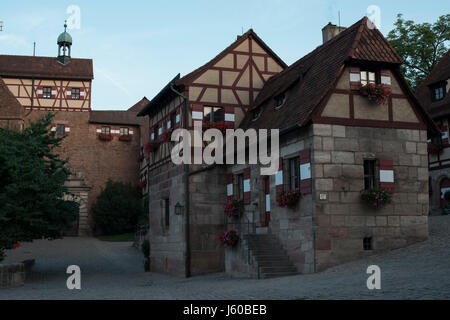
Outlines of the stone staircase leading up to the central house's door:
{"type": "Polygon", "coordinates": [[[250,234],[244,236],[256,263],[258,278],[277,278],[298,274],[286,251],[272,234],[250,234]]]}

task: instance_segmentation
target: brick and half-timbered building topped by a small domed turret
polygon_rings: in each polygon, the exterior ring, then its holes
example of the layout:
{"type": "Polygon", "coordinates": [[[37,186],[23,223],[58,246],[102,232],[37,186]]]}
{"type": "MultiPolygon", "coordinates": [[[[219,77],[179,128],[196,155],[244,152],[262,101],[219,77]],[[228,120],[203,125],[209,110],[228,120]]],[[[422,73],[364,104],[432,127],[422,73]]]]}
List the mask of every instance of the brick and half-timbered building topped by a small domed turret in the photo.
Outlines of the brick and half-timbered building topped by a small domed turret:
{"type": "Polygon", "coordinates": [[[69,158],[67,187],[81,202],[67,233],[88,235],[94,231],[91,206],[106,181],[139,181],[143,122],[133,110],[92,110],[93,62],[67,55],[71,41],[67,32],[60,35],[58,57],[0,55],[0,124],[20,129],[55,113],[50,130],[66,136],[58,151],[69,158]]]}

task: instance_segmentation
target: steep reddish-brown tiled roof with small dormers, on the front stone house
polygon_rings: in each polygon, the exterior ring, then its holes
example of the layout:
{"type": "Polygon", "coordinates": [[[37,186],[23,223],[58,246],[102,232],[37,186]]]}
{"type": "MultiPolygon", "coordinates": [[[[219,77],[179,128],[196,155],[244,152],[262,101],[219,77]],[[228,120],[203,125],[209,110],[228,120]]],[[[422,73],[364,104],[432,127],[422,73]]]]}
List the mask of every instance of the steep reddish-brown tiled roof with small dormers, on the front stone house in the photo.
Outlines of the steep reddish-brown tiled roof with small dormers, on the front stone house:
{"type": "Polygon", "coordinates": [[[313,110],[349,61],[382,62],[398,66],[402,59],[389,45],[381,32],[369,28],[367,17],[317,47],[289,68],[271,77],[259,93],[252,109],[261,108],[259,118],[252,121],[251,112],[244,118],[243,128],[289,128],[305,125],[313,110]],[[279,110],[274,109],[277,95],[290,89],[279,110]]]}

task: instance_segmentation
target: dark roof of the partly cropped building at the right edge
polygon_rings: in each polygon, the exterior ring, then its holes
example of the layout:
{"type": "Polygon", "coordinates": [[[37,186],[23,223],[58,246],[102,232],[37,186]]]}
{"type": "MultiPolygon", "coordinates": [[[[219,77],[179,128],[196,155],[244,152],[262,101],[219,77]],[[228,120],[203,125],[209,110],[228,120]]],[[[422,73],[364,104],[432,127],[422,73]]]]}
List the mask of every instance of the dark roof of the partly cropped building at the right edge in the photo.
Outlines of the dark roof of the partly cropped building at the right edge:
{"type": "Polygon", "coordinates": [[[450,78],[450,50],[439,60],[431,70],[430,74],[416,88],[416,96],[422,106],[431,114],[433,118],[450,115],[450,94],[448,92],[441,101],[433,103],[431,101],[431,91],[429,86],[446,81],[450,78]]]}

